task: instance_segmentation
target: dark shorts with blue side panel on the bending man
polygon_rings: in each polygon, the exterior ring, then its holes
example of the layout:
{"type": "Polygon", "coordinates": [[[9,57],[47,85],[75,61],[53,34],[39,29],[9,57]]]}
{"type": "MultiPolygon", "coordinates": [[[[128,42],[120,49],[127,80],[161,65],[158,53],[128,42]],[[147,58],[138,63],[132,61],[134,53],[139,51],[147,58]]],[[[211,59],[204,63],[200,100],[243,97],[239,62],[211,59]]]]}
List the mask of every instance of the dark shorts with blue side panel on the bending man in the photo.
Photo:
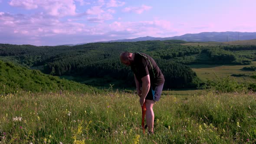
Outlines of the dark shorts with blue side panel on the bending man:
{"type": "Polygon", "coordinates": [[[145,99],[159,101],[159,99],[161,97],[162,90],[163,90],[163,86],[164,86],[164,84],[161,84],[158,86],[150,86],[148,95],[146,96],[145,99]]]}

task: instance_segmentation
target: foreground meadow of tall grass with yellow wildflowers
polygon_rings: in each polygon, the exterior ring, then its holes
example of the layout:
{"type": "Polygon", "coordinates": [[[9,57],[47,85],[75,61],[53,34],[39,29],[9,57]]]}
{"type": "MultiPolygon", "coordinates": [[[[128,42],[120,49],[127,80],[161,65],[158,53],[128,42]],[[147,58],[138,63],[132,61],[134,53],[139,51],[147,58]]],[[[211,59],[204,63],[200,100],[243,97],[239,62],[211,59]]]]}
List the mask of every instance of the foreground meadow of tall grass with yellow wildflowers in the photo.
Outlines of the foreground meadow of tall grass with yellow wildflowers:
{"type": "Polygon", "coordinates": [[[0,105],[1,144],[256,142],[255,93],[164,94],[154,105],[154,135],[142,133],[135,94],[17,92],[0,105]]]}

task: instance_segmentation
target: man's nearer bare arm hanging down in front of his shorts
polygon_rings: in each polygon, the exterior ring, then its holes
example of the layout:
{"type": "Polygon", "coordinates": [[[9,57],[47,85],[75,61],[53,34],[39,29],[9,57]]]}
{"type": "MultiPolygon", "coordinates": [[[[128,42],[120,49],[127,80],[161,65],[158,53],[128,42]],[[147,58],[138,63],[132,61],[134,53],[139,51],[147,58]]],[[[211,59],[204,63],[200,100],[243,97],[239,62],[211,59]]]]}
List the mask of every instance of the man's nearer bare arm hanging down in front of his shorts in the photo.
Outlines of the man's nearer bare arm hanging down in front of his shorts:
{"type": "Polygon", "coordinates": [[[144,76],[141,78],[142,81],[142,92],[141,92],[141,98],[140,98],[140,103],[141,106],[143,106],[145,102],[145,98],[148,95],[148,91],[150,89],[150,77],[149,75],[144,76]]]}

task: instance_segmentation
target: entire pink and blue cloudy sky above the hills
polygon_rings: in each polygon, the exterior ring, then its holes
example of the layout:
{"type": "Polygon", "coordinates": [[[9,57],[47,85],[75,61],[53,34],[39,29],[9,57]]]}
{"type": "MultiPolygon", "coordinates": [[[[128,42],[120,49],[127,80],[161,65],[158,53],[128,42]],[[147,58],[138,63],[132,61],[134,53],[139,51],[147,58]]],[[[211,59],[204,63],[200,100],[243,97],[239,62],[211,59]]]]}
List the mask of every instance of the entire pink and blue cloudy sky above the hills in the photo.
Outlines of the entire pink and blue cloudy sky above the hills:
{"type": "Polygon", "coordinates": [[[0,0],[0,43],[54,46],[256,32],[255,5],[254,0],[0,0]]]}

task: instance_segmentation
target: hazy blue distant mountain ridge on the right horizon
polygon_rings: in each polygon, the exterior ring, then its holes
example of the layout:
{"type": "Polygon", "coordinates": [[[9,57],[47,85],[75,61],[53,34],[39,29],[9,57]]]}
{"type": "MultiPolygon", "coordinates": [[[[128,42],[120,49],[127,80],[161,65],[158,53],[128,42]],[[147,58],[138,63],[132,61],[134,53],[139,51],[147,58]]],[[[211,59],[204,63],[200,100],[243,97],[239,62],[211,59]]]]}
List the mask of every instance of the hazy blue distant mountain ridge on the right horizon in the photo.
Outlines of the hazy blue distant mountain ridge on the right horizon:
{"type": "Polygon", "coordinates": [[[111,41],[104,41],[102,43],[109,42],[138,42],[146,40],[184,40],[187,42],[229,42],[237,40],[249,40],[256,39],[256,33],[247,33],[247,32],[203,32],[203,33],[187,33],[182,36],[173,36],[173,37],[138,37],[135,39],[118,39],[111,41]]]}

